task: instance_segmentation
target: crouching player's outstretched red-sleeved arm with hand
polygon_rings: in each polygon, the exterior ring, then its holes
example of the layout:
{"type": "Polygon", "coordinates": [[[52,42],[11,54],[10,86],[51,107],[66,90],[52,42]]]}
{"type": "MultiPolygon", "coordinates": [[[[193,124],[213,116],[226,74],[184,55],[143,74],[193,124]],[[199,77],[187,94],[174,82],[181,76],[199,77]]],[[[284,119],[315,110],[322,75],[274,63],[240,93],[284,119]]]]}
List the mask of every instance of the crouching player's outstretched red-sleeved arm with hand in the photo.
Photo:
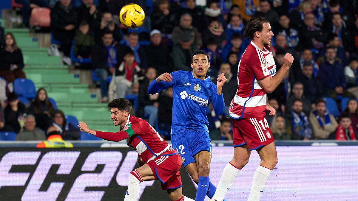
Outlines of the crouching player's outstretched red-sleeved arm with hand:
{"type": "Polygon", "coordinates": [[[102,139],[105,139],[108,141],[113,141],[113,142],[119,142],[119,141],[124,140],[128,137],[131,137],[134,134],[134,132],[132,132],[133,131],[132,129],[128,129],[126,131],[119,131],[116,133],[95,131],[95,130],[89,129],[87,124],[84,122],[79,122],[77,127],[83,132],[90,133],[92,135],[95,135],[96,137],[100,137],[102,139]]]}

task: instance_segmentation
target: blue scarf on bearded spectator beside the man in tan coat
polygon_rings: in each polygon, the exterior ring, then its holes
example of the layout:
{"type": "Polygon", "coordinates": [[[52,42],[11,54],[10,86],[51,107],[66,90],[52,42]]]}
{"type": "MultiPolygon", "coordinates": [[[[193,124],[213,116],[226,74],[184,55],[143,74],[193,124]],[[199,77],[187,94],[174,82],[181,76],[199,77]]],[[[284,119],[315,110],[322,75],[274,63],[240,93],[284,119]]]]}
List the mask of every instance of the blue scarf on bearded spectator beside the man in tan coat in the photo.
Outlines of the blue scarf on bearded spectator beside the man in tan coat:
{"type": "Polygon", "coordinates": [[[293,110],[291,111],[291,114],[292,114],[293,131],[302,137],[311,138],[312,130],[310,128],[310,124],[308,123],[306,114],[304,112],[300,112],[300,116],[299,116],[293,110]]]}

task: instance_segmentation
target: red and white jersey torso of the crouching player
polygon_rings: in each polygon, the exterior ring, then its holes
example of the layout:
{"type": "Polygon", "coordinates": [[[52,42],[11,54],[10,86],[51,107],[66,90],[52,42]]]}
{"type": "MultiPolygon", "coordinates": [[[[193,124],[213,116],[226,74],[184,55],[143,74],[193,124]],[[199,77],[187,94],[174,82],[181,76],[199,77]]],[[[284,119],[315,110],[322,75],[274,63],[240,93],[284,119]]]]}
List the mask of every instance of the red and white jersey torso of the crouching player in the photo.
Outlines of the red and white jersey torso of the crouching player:
{"type": "Polygon", "coordinates": [[[146,163],[159,155],[174,155],[176,152],[158,132],[144,119],[129,116],[125,127],[121,131],[132,129],[134,135],[126,139],[127,145],[135,149],[146,163]]]}

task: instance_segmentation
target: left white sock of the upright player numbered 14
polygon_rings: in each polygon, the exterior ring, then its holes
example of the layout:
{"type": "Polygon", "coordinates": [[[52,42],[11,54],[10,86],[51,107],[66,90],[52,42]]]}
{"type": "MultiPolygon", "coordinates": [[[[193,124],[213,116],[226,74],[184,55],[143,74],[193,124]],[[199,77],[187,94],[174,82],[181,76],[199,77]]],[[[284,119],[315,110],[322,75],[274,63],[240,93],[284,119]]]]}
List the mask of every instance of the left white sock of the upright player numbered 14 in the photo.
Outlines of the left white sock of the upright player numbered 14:
{"type": "Polygon", "coordinates": [[[216,187],[216,192],[213,196],[215,200],[224,200],[224,197],[234,182],[237,175],[240,173],[241,170],[228,163],[223,170],[221,175],[219,185],[216,187]]]}

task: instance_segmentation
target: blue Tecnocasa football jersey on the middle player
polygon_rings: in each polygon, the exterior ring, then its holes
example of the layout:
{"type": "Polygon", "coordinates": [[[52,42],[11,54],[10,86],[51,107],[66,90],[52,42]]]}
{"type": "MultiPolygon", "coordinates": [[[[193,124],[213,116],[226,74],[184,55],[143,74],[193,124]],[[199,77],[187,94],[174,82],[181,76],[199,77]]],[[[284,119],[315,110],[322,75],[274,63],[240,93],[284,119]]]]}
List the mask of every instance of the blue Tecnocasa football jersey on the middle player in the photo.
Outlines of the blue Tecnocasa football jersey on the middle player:
{"type": "MultiPolygon", "coordinates": [[[[181,133],[188,128],[195,131],[208,131],[209,122],[206,112],[209,104],[213,99],[217,99],[217,102],[220,102],[217,107],[223,107],[222,111],[224,109],[224,98],[222,94],[217,94],[217,86],[211,82],[208,75],[202,80],[195,78],[193,72],[178,70],[172,72],[171,76],[172,82],[156,83],[154,80],[148,88],[148,92],[154,94],[154,92],[173,87],[171,134],[181,133]]],[[[214,102],[215,110],[216,105],[214,102]]]]}

